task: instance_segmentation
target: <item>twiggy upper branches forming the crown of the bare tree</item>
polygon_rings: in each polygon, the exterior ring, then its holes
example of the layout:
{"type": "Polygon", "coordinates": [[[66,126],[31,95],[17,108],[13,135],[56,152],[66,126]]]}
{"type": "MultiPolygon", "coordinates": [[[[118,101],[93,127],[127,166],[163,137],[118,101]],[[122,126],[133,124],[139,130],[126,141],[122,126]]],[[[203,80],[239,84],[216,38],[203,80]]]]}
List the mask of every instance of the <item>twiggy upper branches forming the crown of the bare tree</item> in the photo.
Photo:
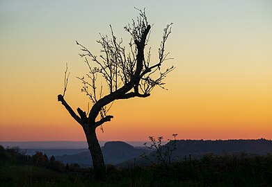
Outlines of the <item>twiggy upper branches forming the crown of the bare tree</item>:
{"type": "Polygon", "coordinates": [[[136,21],[132,19],[132,24],[125,26],[125,30],[130,33],[133,39],[129,42],[129,51],[126,51],[125,46],[122,46],[122,39],[120,39],[120,41],[116,39],[111,26],[111,37],[100,35],[101,39],[97,41],[102,46],[101,55],[99,55],[99,57],[77,42],[77,44],[81,46],[81,51],[84,52],[80,55],[81,57],[85,57],[85,62],[89,68],[87,75],[89,80],[80,78],[84,84],[82,91],[86,92],[91,100],[93,100],[93,103],[97,103],[97,100],[102,96],[102,89],[97,90],[96,85],[98,75],[104,78],[109,88],[109,94],[124,87],[131,82],[131,79],[138,79],[134,80],[134,85],[131,87],[131,89],[137,89],[137,92],[140,88],[141,93],[137,94],[150,94],[150,91],[152,91],[155,86],[159,85],[162,87],[164,84],[162,82],[163,79],[174,69],[173,66],[166,69],[166,71],[161,71],[160,69],[163,62],[169,59],[168,53],[165,52],[165,45],[171,33],[172,24],[168,24],[166,28],[163,29],[163,37],[159,47],[159,60],[150,66],[150,50],[147,51],[145,57],[144,48],[148,43],[151,26],[148,24],[145,10],[139,10],[139,12],[140,14],[136,21]],[[95,64],[90,64],[87,57],[90,57],[95,64]],[[138,69],[138,72],[136,72],[136,69],[138,69]],[[154,78],[156,71],[159,73],[157,73],[157,78],[154,78]],[[88,88],[92,89],[92,91],[87,89],[85,85],[89,86],[88,88]],[[99,92],[99,94],[96,92],[99,92]]]}

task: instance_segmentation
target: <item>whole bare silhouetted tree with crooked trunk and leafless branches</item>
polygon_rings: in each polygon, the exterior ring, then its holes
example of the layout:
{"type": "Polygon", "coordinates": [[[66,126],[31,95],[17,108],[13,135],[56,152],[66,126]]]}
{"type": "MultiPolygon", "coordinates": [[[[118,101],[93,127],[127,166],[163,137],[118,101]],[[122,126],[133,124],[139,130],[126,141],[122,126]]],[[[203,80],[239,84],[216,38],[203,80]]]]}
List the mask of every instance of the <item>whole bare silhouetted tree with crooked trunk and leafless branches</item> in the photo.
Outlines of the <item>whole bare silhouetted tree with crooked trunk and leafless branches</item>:
{"type": "Polygon", "coordinates": [[[149,42],[152,27],[147,21],[145,10],[139,10],[137,19],[132,19],[132,24],[125,26],[125,30],[131,35],[129,52],[126,51],[125,46],[122,46],[122,39],[120,41],[116,39],[111,26],[111,37],[100,35],[101,39],[97,41],[102,46],[99,56],[94,55],[88,48],[77,42],[82,51],[80,56],[84,58],[89,71],[86,77],[79,78],[83,83],[81,91],[90,98],[93,107],[90,110],[88,107],[88,112],[83,112],[78,107],[78,115],[65,101],[64,95],[69,75],[67,69],[64,92],[63,95],[58,95],[58,101],[83,127],[93,159],[93,168],[99,178],[105,177],[106,167],[95,130],[113,118],[108,112],[114,100],[134,97],[146,98],[150,96],[150,92],[156,86],[165,89],[163,79],[174,69],[173,66],[164,71],[161,69],[163,62],[170,59],[165,51],[165,45],[171,33],[171,25],[168,24],[163,29],[159,59],[153,64],[151,63],[150,48],[147,53],[144,51],[149,42]],[[102,85],[97,87],[97,82],[100,80],[104,80],[107,94],[104,94],[105,89],[102,85]]]}

